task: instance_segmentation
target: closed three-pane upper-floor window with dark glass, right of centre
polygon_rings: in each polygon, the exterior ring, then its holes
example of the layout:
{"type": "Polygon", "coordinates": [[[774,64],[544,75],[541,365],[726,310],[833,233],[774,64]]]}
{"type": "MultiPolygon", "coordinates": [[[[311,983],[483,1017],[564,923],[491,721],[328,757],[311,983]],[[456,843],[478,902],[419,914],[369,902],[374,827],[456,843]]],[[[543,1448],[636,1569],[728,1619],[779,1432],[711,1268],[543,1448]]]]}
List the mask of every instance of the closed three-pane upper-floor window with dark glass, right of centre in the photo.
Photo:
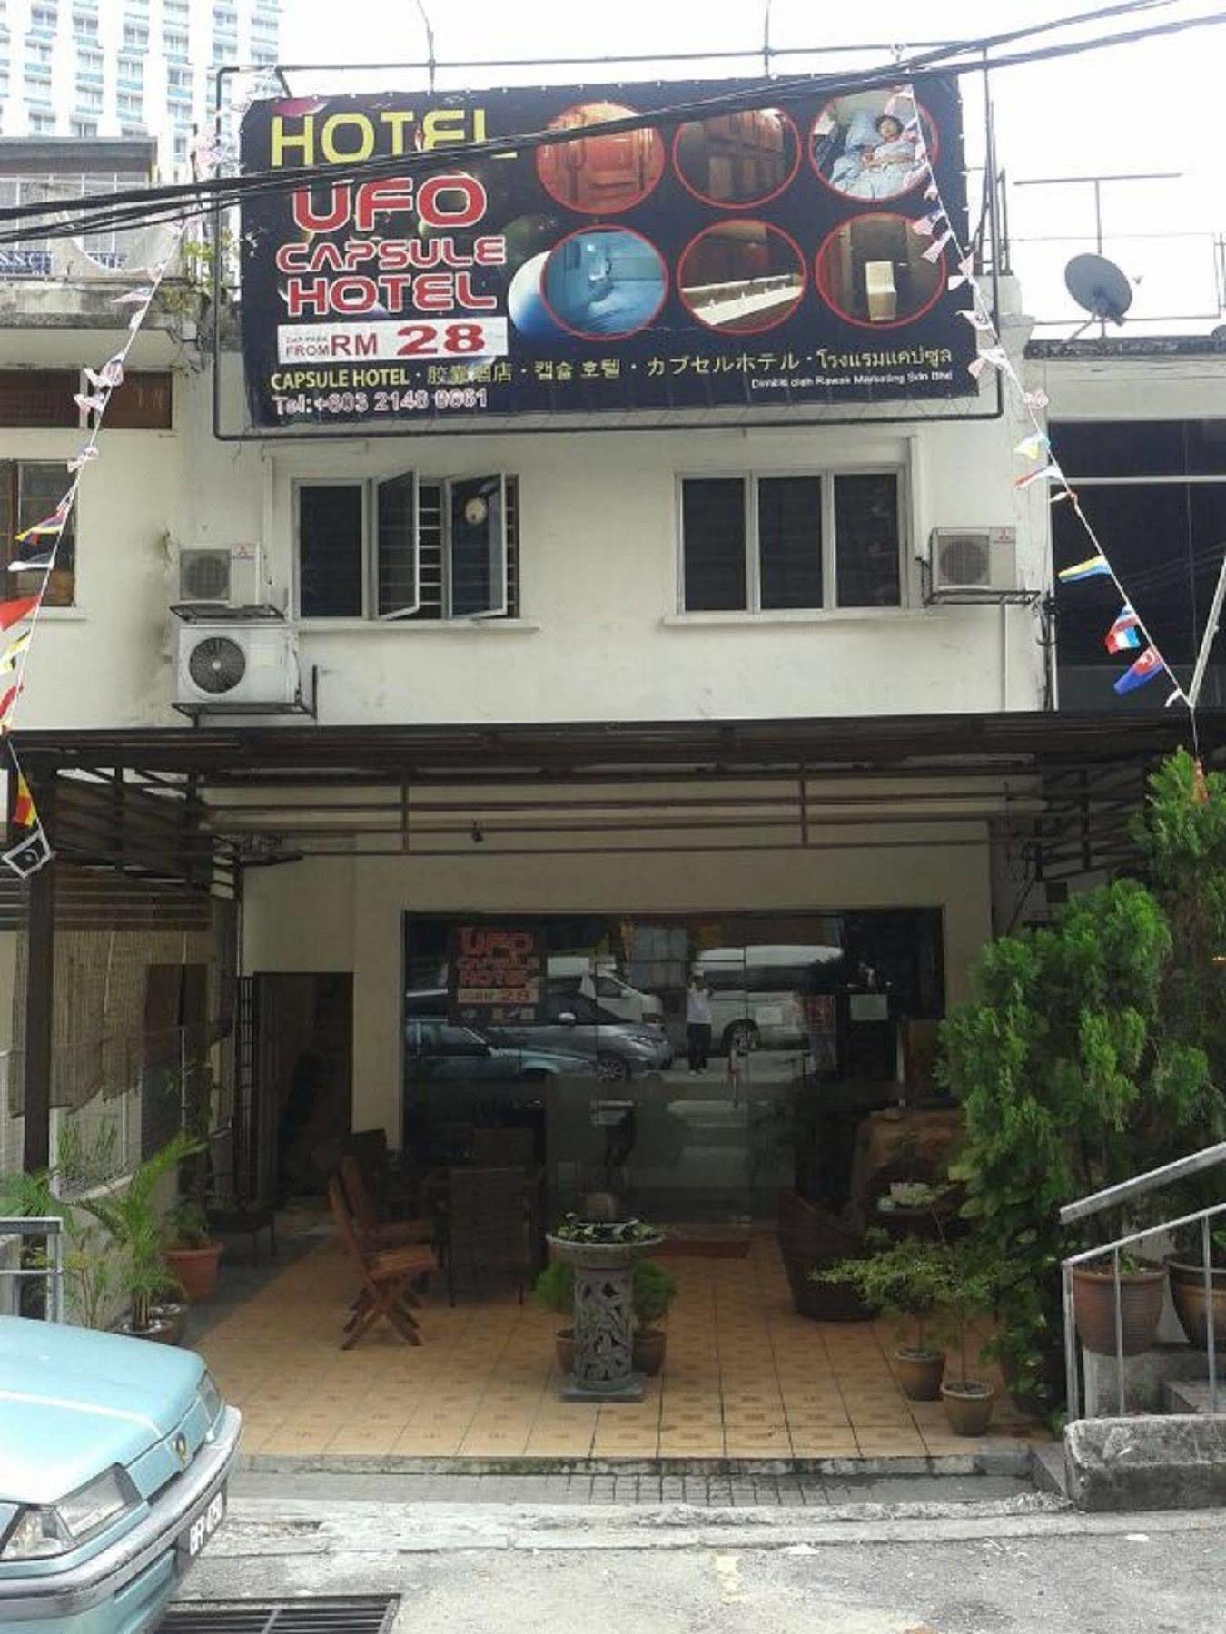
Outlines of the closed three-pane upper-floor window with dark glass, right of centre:
{"type": "Polygon", "coordinates": [[[902,603],[896,471],[685,477],[685,613],[902,603]]]}

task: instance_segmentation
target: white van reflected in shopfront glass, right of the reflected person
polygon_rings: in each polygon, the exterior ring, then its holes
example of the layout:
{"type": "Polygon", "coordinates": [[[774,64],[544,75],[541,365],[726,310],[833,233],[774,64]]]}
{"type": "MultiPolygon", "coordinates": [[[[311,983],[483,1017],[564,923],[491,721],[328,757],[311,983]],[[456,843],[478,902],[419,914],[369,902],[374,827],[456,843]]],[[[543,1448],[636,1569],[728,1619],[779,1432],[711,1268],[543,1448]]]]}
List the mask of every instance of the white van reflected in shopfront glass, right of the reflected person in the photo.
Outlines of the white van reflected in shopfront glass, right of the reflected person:
{"type": "Polygon", "coordinates": [[[804,1044],[804,998],[834,992],[842,962],[842,948],[708,948],[693,969],[711,989],[713,1038],[727,1051],[804,1044]]]}

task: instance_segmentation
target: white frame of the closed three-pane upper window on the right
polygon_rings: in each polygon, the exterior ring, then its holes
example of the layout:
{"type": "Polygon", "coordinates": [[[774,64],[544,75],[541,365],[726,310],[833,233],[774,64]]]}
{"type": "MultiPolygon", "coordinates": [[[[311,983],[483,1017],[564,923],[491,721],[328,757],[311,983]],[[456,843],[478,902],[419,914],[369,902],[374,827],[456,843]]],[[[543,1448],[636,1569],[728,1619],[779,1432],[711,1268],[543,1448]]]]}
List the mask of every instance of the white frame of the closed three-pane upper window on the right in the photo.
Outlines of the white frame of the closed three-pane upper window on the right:
{"type": "Polygon", "coordinates": [[[896,613],[911,605],[909,575],[909,538],[911,538],[911,495],[907,487],[907,467],[897,461],[871,461],[866,464],[839,462],[829,466],[803,467],[737,467],[736,471],[680,471],[675,482],[675,516],[677,516],[677,613],[683,618],[819,618],[824,613],[847,616],[848,613],[896,613]],[[822,605],[814,608],[763,608],[762,606],[762,541],[758,538],[758,482],[770,482],[778,477],[816,477],[822,485],[821,528],[822,528],[822,605]],[[899,551],[899,598],[896,605],[884,608],[845,608],[839,596],[839,541],[835,538],[834,482],[835,477],[894,477],[897,482],[897,551],[899,551]],[[719,482],[739,480],[744,489],[745,508],[745,606],[742,608],[687,608],[685,605],[685,484],[687,482],[719,482]]]}

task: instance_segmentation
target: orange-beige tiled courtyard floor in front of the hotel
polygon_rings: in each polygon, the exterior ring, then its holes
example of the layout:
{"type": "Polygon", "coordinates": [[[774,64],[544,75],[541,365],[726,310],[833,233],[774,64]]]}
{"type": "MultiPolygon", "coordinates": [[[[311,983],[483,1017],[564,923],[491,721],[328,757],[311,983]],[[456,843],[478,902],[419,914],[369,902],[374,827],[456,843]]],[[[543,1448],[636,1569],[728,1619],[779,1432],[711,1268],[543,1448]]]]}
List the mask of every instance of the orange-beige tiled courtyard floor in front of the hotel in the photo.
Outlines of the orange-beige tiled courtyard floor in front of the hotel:
{"type": "MultiPolygon", "coordinates": [[[[744,1260],[670,1258],[680,1284],[669,1356],[641,1404],[559,1399],[561,1320],[530,1297],[441,1286],[420,1312],[425,1343],[386,1325],[338,1348],[350,1270],[320,1242],[199,1340],[245,1415],[244,1449],[400,1458],[917,1458],[974,1451],[940,1402],[897,1389],[881,1324],[793,1312],[775,1242],[744,1260]]],[[[981,1373],[984,1369],[979,1369],[981,1373]]],[[[987,1369],[987,1376],[991,1369],[987,1369]]],[[[999,1389],[991,1440],[1041,1438],[999,1389]]]]}

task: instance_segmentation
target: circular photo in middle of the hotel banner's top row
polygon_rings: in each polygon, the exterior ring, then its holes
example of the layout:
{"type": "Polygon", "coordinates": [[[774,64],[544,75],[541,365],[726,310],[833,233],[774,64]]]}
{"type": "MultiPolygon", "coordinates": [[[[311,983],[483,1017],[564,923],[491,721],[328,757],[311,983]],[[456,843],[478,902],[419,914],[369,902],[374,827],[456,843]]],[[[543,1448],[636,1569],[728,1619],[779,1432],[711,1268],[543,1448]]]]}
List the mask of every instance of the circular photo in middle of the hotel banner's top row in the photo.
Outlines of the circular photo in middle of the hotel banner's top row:
{"type": "Polygon", "coordinates": [[[752,108],[680,126],[672,160],[703,204],[749,209],[788,186],[801,162],[801,139],[786,113],[752,108]]]}

